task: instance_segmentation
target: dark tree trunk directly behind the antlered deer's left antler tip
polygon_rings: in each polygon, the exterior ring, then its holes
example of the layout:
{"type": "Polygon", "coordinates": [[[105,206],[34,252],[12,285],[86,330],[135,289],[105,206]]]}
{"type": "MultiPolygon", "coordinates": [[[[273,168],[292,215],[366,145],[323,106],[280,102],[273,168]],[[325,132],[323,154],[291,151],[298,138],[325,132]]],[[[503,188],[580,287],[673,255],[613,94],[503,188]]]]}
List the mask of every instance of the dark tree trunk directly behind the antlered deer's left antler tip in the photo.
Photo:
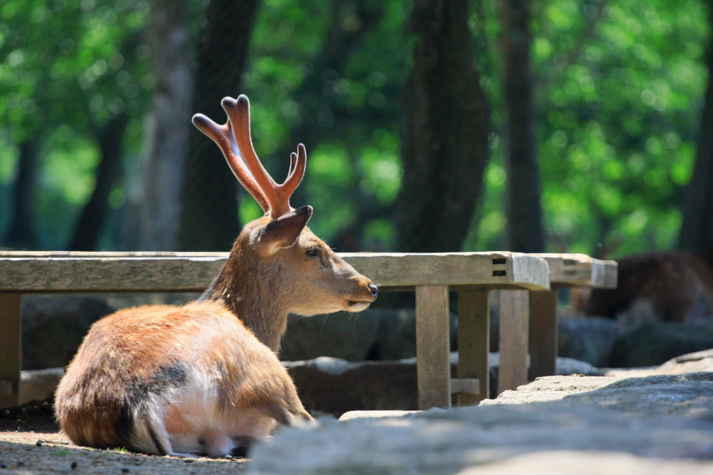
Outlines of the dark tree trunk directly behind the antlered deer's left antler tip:
{"type": "MultiPolygon", "coordinates": [[[[199,40],[193,113],[204,113],[218,123],[225,121],[220,100],[241,92],[257,4],[257,0],[210,1],[206,11],[207,27],[199,40]]],[[[240,233],[237,186],[237,180],[212,140],[192,130],[183,181],[179,249],[230,249],[240,233]]]]}

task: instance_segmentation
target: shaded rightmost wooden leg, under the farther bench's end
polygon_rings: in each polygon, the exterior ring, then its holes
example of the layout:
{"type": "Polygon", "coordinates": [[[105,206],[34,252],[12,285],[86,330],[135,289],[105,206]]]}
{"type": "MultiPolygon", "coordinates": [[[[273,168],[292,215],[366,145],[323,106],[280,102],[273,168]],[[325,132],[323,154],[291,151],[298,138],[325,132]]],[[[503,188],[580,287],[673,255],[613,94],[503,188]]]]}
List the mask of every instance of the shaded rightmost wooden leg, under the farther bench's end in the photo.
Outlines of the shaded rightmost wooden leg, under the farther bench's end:
{"type": "Polygon", "coordinates": [[[557,371],[557,290],[530,293],[529,379],[557,371]]]}

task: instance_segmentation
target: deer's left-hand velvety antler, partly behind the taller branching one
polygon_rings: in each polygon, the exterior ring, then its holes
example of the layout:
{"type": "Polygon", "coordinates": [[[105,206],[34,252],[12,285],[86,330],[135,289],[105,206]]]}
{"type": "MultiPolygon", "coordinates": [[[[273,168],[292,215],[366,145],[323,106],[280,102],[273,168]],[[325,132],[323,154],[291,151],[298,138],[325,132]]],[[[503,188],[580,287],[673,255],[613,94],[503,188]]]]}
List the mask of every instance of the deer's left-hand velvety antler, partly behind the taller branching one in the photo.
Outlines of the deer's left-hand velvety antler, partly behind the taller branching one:
{"type": "Polygon", "coordinates": [[[270,202],[268,202],[265,192],[263,192],[260,185],[257,184],[250,170],[245,167],[245,163],[237,156],[238,147],[235,143],[235,137],[233,137],[232,131],[230,130],[230,120],[223,125],[218,125],[203,114],[195,114],[191,121],[198,130],[210,137],[220,148],[225,157],[225,161],[227,161],[237,181],[239,181],[240,184],[247,189],[247,192],[255,198],[257,203],[260,204],[262,211],[267,213],[270,210],[270,202]]]}

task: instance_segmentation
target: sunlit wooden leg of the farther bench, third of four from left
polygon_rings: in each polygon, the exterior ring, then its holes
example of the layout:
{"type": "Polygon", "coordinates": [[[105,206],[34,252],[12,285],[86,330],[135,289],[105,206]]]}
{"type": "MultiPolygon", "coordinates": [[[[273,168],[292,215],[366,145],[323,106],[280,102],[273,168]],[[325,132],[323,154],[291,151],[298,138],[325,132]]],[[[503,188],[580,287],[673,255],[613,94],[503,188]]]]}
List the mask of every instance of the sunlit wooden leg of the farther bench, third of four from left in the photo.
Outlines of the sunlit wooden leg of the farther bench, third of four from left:
{"type": "Polygon", "coordinates": [[[529,322],[530,292],[501,291],[498,394],[514,390],[528,380],[529,322]]]}

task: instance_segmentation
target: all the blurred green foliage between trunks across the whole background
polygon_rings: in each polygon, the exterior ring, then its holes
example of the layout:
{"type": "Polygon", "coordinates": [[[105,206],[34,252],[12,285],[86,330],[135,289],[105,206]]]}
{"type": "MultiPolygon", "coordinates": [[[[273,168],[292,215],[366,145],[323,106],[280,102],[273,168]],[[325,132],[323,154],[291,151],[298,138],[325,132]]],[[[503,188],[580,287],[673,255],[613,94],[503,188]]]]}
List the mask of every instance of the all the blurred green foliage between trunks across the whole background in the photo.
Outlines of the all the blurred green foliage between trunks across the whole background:
{"type": "MultiPolygon", "coordinates": [[[[483,1],[484,19],[471,18],[493,110],[493,155],[469,250],[503,246],[496,3],[483,1]]],[[[586,253],[615,236],[624,240],[622,253],[674,246],[706,78],[704,2],[533,3],[545,229],[586,253]]],[[[145,0],[1,2],[0,236],[18,145],[37,140],[41,244],[66,244],[93,188],[96,131],[118,113],[132,119],[125,136],[131,179],[110,200],[115,209],[125,205],[140,180],[143,122],[156,88],[144,40],[148,7],[145,0]]],[[[393,246],[408,14],[401,1],[265,0],[244,90],[225,91],[250,95],[255,147],[276,177],[284,176],[297,143],[307,145],[307,177],[293,202],[312,204],[314,231],[338,246],[350,229],[367,249],[393,246]]],[[[240,219],[260,213],[252,199],[242,200],[240,219]]]]}

